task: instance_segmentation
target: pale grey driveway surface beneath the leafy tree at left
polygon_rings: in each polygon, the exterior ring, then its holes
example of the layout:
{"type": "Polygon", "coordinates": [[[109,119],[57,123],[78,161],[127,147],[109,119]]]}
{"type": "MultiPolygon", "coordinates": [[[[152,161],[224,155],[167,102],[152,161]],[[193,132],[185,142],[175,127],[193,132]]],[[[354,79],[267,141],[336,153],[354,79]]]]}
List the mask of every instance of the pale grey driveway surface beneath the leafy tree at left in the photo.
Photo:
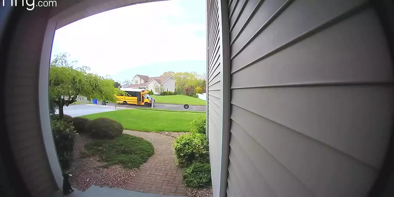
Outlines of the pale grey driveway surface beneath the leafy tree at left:
{"type": "Polygon", "coordinates": [[[63,112],[64,114],[71,115],[72,117],[87,115],[91,113],[100,113],[100,112],[111,112],[115,110],[121,110],[119,108],[114,108],[113,106],[105,106],[105,105],[95,105],[95,104],[77,104],[77,105],[69,105],[68,107],[64,106],[63,112]]]}

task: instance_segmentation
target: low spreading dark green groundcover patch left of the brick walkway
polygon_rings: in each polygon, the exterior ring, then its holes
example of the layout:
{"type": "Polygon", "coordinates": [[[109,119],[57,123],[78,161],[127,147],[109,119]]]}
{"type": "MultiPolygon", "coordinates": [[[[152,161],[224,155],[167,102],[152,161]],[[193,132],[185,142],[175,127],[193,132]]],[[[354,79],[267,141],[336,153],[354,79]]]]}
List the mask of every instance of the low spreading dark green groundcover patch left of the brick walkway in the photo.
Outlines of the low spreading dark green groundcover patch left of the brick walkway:
{"type": "Polygon", "coordinates": [[[95,140],[85,145],[84,156],[97,155],[104,166],[121,164],[126,168],[139,168],[150,156],[154,148],[149,141],[128,134],[115,139],[95,140]]]}

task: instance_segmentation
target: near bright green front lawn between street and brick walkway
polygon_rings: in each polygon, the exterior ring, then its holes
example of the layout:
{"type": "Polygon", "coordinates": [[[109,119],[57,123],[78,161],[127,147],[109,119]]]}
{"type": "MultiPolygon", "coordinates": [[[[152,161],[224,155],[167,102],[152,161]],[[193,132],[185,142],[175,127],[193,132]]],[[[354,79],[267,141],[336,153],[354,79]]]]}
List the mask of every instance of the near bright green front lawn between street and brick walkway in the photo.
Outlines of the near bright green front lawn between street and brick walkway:
{"type": "Polygon", "coordinates": [[[84,115],[87,119],[107,117],[122,123],[128,130],[187,132],[190,123],[202,113],[163,112],[156,110],[117,110],[84,115]]]}

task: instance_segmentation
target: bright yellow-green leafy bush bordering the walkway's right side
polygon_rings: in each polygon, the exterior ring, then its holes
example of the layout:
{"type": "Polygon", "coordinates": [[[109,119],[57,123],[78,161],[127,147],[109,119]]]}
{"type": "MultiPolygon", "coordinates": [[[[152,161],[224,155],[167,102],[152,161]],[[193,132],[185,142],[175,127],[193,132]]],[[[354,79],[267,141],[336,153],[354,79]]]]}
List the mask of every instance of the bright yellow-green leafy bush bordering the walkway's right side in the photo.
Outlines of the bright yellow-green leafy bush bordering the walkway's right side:
{"type": "Polygon", "coordinates": [[[178,136],[173,147],[175,163],[180,167],[188,166],[193,161],[209,162],[208,143],[204,134],[189,133],[178,136]]]}

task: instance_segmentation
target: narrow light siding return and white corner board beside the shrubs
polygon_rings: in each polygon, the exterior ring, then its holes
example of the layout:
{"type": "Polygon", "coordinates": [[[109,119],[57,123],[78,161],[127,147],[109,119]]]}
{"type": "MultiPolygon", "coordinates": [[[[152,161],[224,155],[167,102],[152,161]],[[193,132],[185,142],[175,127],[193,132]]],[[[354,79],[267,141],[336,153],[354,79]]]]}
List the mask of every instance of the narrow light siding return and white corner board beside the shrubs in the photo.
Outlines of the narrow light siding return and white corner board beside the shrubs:
{"type": "Polygon", "coordinates": [[[225,196],[227,185],[230,67],[227,1],[207,0],[207,138],[214,197],[225,196]],[[223,20],[224,19],[224,20],[223,20]]]}

